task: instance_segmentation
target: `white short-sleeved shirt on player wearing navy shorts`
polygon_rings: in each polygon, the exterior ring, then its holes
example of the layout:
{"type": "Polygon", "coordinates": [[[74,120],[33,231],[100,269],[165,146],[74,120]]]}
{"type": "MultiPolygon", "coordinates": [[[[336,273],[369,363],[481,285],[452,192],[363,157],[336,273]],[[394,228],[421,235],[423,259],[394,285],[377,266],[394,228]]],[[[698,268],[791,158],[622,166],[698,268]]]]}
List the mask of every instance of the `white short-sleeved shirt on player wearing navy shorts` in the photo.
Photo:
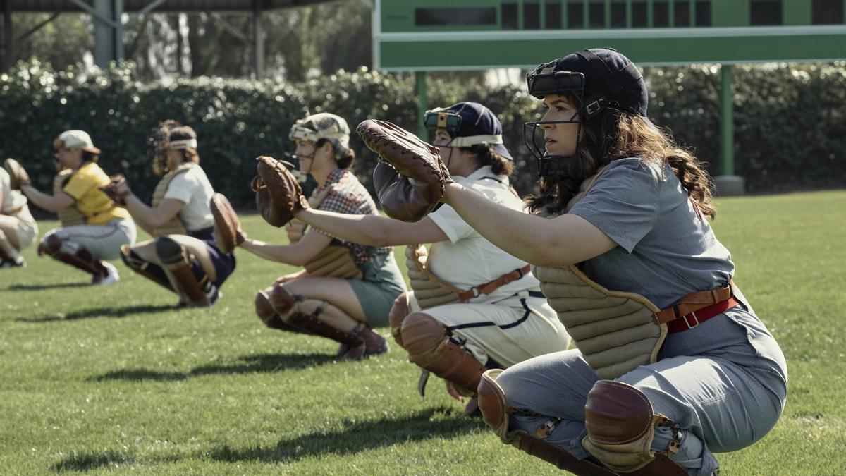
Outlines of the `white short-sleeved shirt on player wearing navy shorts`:
{"type": "Polygon", "coordinates": [[[196,231],[214,225],[209,205],[212,195],[214,189],[211,188],[206,172],[198,166],[173,177],[164,198],[173,198],[185,204],[179,211],[179,219],[187,230],[196,231]]]}

